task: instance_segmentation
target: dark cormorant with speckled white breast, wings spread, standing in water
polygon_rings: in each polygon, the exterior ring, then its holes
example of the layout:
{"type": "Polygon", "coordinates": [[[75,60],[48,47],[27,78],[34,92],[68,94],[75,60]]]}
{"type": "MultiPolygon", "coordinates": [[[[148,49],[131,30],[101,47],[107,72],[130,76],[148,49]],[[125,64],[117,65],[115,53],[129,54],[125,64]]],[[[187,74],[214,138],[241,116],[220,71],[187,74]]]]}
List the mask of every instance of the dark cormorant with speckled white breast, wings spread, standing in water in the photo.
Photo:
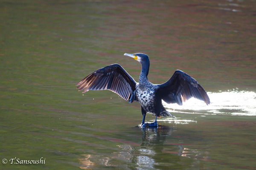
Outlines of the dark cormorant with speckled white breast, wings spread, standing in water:
{"type": "MultiPolygon", "coordinates": [[[[124,54],[140,62],[142,69],[139,83],[122,68],[119,64],[108,65],[99,68],[88,75],[76,85],[83,93],[89,90],[110,90],[118,94],[129,103],[140,102],[143,120],[142,127],[157,127],[157,117],[173,116],[166,111],[162,105],[162,100],[166,103],[183,102],[195,97],[203,100],[207,105],[210,103],[209,97],[202,86],[188,74],[176,70],[173,76],[165,83],[154,85],[148,81],[149,58],[143,53],[124,54]],[[156,116],[155,122],[145,123],[146,113],[156,116]]],[[[173,116],[175,117],[175,116],[173,116]]]]}

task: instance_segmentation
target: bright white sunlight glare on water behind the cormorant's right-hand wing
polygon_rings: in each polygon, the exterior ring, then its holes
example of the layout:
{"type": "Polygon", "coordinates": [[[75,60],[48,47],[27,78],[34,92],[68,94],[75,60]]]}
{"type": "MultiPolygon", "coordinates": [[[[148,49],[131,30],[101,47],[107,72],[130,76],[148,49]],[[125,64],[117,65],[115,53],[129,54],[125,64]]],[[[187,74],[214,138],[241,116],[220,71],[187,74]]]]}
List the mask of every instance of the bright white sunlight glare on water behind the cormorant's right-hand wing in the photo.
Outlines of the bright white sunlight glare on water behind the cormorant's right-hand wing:
{"type": "Polygon", "coordinates": [[[256,93],[252,91],[228,90],[219,93],[207,93],[210,105],[198,99],[189,99],[182,106],[167,104],[163,106],[170,109],[172,113],[197,113],[218,115],[256,116],[256,93]]]}

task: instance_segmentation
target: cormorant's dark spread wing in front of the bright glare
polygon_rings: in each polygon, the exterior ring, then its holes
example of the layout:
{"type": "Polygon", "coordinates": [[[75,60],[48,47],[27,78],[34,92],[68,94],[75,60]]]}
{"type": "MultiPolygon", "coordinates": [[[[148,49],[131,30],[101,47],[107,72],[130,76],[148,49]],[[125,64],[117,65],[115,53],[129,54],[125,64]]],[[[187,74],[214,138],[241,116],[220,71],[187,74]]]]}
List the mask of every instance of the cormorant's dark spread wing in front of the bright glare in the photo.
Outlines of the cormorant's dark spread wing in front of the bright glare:
{"type": "Polygon", "coordinates": [[[160,96],[166,103],[182,102],[194,97],[210,104],[209,96],[204,88],[192,77],[183,71],[176,70],[173,76],[165,83],[159,85],[160,96]]]}

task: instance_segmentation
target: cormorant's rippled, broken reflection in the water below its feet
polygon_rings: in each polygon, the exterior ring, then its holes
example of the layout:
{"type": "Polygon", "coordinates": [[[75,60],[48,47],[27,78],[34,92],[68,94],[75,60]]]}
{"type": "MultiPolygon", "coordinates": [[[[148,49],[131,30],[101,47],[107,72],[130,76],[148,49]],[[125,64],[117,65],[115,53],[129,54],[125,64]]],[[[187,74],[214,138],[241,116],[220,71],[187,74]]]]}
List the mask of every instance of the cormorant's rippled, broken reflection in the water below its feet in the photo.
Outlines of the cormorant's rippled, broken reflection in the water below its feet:
{"type": "Polygon", "coordinates": [[[102,146],[96,148],[95,151],[90,150],[90,154],[81,155],[80,168],[93,170],[101,170],[105,167],[117,167],[123,170],[161,169],[161,166],[172,168],[173,166],[180,166],[184,157],[189,158],[186,159],[186,164],[195,167],[199,166],[198,159],[213,161],[209,157],[209,152],[200,149],[198,144],[186,143],[184,138],[173,136],[176,131],[175,126],[173,124],[172,127],[161,125],[150,128],[134,127],[134,132],[138,132],[138,129],[141,130],[140,136],[132,135],[130,141],[125,143],[123,140],[123,144],[108,147],[108,149],[115,151],[107,155],[101,154],[102,146]],[[138,138],[141,138],[142,142],[134,142],[138,138]]]}

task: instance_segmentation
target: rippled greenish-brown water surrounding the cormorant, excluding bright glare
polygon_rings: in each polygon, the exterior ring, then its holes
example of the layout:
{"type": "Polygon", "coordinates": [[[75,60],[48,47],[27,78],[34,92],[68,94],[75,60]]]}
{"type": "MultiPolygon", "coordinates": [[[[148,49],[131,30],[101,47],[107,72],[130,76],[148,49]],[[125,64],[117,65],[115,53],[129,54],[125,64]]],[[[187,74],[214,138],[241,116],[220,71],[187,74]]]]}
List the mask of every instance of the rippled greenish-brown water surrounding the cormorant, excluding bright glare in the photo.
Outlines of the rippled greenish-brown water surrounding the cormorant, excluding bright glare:
{"type": "Polygon", "coordinates": [[[0,0],[0,169],[256,169],[255,6],[0,0]],[[148,54],[151,82],[183,70],[212,106],[175,108],[177,119],[142,130],[139,103],[76,90],[82,78],[113,63],[138,81],[140,64],[123,56],[135,52],[148,54]],[[250,101],[248,111],[239,100],[250,101]],[[44,163],[17,164],[40,158],[44,163]]]}

